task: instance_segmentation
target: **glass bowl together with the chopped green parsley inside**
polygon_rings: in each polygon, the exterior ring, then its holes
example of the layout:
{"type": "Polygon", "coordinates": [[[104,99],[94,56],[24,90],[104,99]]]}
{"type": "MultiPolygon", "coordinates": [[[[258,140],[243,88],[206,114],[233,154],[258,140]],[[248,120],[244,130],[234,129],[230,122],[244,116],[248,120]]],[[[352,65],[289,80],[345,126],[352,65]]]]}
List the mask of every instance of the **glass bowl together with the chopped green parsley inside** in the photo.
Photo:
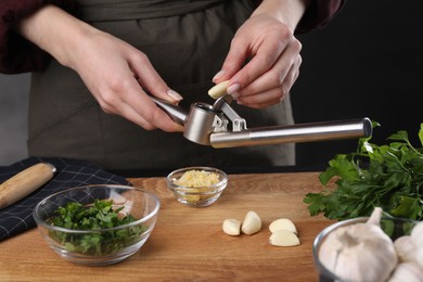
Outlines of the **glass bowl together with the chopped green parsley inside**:
{"type": "Polygon", "coordinates": [[[137,253],[152,233],[158,197],[127,185],[86,185],[42,200],[34,219],[61,257],[77,264],[119,262],[137,253]]]}

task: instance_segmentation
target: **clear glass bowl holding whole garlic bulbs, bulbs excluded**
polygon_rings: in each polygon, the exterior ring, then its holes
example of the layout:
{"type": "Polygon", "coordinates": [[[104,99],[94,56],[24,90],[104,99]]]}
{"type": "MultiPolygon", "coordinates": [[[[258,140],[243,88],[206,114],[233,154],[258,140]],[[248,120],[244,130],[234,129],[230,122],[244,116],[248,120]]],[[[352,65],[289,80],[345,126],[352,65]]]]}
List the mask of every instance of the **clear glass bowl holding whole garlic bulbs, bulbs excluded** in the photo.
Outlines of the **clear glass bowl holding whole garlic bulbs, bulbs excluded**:
{"type": "MultiPolygon", "coordinates": [[[[335,229],[341,227],[346,227],[355,223],[364,223],[368,221],[369,217],[359,217],[359,218],[352,218],[352,219],[346,219],[338,221],[336,223],[333,223],[323,231],[321,231],[315,239],[315,242],[312,244],[312,258],[315,261],[315,266],[317,267],[319,271],[319,282],[343,282],[344,280],[338,278],[335,273],[333,273],[331,270],[325,268],[323,264],[319,259],[319,251],[320,246],[323,244],[324,240],[329,236],[331,232],[333,232],[335,229]]],[[[418,225],[419,221],[411,220],[407,218],[398,218],[398,217],[392,217],[392,218],[382,218],[381,219],[381,228],[382,230],[393,240],[395,241],[397,238],[402,235],[410,235],[411,230],[415,225],[418,225]]]]}

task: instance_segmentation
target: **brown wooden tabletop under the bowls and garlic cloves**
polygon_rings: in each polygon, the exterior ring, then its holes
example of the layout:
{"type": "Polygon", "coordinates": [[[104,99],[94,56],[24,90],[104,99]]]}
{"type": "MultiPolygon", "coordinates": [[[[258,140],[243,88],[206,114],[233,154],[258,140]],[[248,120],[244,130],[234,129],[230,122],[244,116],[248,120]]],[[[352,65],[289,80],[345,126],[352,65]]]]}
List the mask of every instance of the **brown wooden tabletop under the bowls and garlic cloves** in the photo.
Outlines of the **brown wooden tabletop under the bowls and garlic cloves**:
{"type": "Polygon", "coordinates": [[[164,178],[130,179],[161,198],[156,227],[144,246],[128,259],[105,267],[86,267],[59,257],[36,229],[0,243],[0,281],[318,281],[312,242],[332,221],[310,217],[303,203],[321,189],[318,172],[230,175],[218,202],[193,208],[176,201],[164,178]],[[255,210],[262,230],[229,236],[226,218],[243,219],[255,210]],[[297,227],[302,245],[268,243],[269,223],[286,217],[297,227]]]}

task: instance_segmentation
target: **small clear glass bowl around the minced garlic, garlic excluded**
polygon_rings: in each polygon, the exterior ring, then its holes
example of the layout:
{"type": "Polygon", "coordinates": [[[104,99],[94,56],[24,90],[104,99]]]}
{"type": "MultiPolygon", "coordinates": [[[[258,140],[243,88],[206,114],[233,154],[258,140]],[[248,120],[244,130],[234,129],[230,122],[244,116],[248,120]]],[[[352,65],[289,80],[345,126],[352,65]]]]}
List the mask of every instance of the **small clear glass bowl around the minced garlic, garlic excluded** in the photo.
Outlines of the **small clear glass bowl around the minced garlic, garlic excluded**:
{"type": "Polygon", "coordinates": [[[166,183],[167,188],[174,192],[178,202],[192,207],[205,207],[211,205],[219,198],[228,185],[228,176],[222,170],[213,167],[184,167],[170,172],[166,178],[166,183]],[[176,182],[187,171],[191,170],[216,174],[219,182],[205,187],[178,185],[176,182]]]}

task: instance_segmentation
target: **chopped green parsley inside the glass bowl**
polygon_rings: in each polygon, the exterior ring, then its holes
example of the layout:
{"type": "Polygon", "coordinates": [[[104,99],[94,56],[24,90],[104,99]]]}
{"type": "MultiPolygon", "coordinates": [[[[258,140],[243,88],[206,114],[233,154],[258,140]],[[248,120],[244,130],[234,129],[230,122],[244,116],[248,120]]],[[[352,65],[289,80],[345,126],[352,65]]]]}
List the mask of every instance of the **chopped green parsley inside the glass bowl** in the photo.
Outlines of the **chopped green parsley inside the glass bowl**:
{"type": "Polygon", "coordinates": [[[89,230],[89,233],[50,231],[50,236],[65,245],[67,251],[87,255],[104,255],[117,252],[140,240],[144,226],[113,229],[136,221],[132,215],[123,216],[124,206],[113,209],[113,201],[95,200],[85,206],[68,202],[54,210],[49,223],[70,230],[89,230]],[[106,229],[106,231],[104,231],[106,229]],[[111,229],[111,230],[107,230],[111,229]],[[102,231],[100,231],[102,230],[102,231]],[[97,232],[98,231],[98,232],[97,232]]]}

